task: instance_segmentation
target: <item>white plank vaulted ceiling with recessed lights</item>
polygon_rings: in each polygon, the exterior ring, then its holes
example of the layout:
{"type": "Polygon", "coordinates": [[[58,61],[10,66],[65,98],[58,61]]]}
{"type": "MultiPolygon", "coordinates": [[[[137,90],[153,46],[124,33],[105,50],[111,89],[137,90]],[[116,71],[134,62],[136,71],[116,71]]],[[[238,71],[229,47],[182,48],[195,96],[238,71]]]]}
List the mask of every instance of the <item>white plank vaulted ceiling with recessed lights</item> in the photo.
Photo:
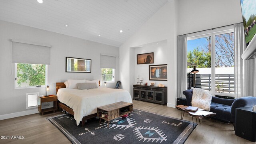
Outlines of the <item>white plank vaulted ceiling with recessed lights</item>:
{"type": "Polygon", "coordinates": [[[119,47],[166,2],[0,0],[0,20],[119,47]]]}

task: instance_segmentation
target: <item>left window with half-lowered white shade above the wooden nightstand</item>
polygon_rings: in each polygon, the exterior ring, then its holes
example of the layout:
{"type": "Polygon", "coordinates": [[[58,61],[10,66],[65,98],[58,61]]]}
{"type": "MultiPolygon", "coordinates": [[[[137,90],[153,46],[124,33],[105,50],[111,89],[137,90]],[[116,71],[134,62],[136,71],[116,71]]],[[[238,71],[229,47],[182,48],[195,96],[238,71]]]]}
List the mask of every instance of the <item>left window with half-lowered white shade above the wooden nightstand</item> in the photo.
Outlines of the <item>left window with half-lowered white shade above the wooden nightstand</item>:
{"type": "Polygon", "coordinates": [[[12,39],[12,63],[15,63],[16,89],[46,85],[50,45],[12,39]]]}

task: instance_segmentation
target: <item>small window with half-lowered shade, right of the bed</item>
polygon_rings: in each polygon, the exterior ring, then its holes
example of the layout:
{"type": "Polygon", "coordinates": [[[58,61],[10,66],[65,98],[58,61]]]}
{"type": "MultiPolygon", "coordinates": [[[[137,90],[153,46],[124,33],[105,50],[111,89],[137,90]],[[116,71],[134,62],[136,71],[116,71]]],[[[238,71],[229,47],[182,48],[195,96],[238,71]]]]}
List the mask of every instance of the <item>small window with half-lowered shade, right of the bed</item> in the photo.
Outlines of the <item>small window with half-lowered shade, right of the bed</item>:
{"type": "Polygon", "coordinates": [[[115,82],[116,57],[100,55],[101,81],[115,82]]]}

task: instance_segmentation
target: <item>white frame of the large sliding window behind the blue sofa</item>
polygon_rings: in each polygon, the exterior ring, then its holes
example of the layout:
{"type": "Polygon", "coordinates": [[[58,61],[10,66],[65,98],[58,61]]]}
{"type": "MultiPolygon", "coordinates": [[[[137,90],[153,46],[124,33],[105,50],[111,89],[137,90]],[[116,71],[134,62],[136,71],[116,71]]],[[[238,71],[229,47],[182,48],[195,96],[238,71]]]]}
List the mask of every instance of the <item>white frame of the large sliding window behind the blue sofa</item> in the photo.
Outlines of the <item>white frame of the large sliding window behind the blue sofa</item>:
{"type": "MultiPolygon", "coordinates": [[[[234,93],[216,93],[215,91],[215,36],[217,35],[221,35],[221,34],[228,34],[228,33],[234,33],[234,28],[233,26],[227,26],[227,27],[224,27],[224,28],[220,28],[220,29],[216,29],[216,30],[211,30],[210,32],[209,31],[204,31],[204,32],[198,32],[198,33],[194,33],[194,34],[189,34],[188,35],[188,38],[187,38],[187,41],[189,40],[193,40],[193,39],[199,39],[199,38],[203,38],[203,37],[211,37],[211,51],[214,51],[211,53],[211,75],[212,75],[212,78],[211,78],[211,89],[212,91],[208,91],[208,93],[210,93],[211,95],[213,96],[216,96],[216,95],[220,95],[220,96],[229,96],[229,97],[234,97],[234,93]]],[[[186,55],[188,54],[187,53],[188,50],[186,51],[186,55]]],[[[186,67],[186,69],[188,69],[186,67]]],[[[188,71],[188,70],[187,70],[188,71]]],[[[187,83],[186,83],[187,85],[187,83]]],[[[186,86],[188,87],[188,86],[186,86]]]]}

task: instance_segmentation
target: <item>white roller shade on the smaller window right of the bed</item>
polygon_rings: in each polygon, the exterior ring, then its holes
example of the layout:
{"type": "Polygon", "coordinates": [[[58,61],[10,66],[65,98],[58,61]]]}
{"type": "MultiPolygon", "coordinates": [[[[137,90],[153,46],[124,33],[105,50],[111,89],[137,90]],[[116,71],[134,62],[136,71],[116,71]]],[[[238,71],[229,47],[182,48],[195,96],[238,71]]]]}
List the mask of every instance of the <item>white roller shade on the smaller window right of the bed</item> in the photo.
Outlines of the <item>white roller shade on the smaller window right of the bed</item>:
{"type": "Polygon", "coordinates": [[[108,55],[100,55],[100,67],[115,69],[116,68],[116,57],[108,55]]]}

